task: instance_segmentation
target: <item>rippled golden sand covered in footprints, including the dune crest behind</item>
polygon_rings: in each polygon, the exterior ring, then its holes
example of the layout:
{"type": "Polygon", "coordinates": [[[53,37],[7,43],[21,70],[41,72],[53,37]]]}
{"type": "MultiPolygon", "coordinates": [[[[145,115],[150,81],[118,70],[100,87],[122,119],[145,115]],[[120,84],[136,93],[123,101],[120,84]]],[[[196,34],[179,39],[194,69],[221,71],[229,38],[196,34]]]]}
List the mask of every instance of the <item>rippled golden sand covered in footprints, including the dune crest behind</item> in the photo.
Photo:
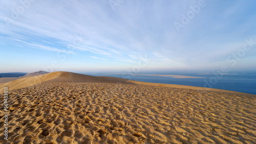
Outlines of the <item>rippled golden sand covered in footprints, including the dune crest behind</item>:
{"type": "MultiPolygon", "coordinates": [[[[8,142],[256,141],[256,99],[243,93],[159,87],[63,72],[4,85],[16,86],[9,90],[8,142]]],[[[3,125],[4,117],[0,119],[1,132],[3,125]]],[[[2,134],[0,142],[6,142],[2,134]]]]}

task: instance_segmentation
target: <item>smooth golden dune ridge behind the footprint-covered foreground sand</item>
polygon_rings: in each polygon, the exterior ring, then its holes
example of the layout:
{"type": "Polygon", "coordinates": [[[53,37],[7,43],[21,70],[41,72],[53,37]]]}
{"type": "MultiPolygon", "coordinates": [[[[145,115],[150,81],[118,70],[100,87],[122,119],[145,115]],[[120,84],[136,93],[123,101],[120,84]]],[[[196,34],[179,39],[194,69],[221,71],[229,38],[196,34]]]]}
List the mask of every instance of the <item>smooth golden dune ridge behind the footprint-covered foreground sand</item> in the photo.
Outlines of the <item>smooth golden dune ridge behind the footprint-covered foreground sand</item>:
{"type": "Polygon", "coordinates": [[[46,73],[47,74],[35,72],[35,74],[40,74],[37,76],[32,76],[31,73],[29,73],[30,75],[28,75],[27,77],[20,78],[17,80],[6,82],[6,83],[0,83],[0,89],[1,89],[0,92],[3,92],[3,88],[5,86],[9,86],[10,90],[14,90],[18,88],[24,88],[27,86],[39,84],[42,82],[91,82],[91,83],[116,83],[116,84],[136,84],[136,85],[159,86],[159,87],[173,87],[173,88],[182,88],[182,89],[193,89],[193,90],[198,90],[199,92],[215,91],[215,92],[223,92],[223,93],[229,93],[229,94],[239,94],[239,95],[247,95],[250,97],[256,97],[255,94],[215,89],[215,88],[205,88],[205,87],[185,86],[185,85],[175,85],[175,84],[149,83],[149,82],[127,80],[122,78],[104,77],[104,76],[96,77],[96,76],[71,73],[67,71],[55,71],[52,73],[48,73],[48,72],[46,73]]]}

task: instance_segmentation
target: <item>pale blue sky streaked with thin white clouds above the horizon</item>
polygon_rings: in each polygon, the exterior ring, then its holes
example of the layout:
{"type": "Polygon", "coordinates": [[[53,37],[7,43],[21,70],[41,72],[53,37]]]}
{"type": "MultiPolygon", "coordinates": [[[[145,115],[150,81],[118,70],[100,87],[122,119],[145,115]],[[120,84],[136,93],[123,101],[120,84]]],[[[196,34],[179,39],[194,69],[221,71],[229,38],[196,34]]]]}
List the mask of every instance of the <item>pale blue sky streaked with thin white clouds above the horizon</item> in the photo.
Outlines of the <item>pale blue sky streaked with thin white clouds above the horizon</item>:
{"type": "Polygon", "coordinates": [[[3,0],[0,73],[254,70],[255,5],[3,0]]]}

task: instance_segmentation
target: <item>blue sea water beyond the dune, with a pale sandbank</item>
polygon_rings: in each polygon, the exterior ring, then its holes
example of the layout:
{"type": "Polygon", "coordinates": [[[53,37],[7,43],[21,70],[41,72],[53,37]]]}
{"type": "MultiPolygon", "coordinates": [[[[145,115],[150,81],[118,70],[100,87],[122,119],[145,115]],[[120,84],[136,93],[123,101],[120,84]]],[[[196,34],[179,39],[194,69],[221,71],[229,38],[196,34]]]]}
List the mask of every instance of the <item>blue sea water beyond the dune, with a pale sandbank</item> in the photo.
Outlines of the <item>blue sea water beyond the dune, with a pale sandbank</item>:
{"type": "MultiPolygon", "coordinates": [[[[203,73],[165,73],[161,75],[181,75],[202,78],[174,78],[163,76],[148,76],[148,75],[130,75],[130,74],[89,74],[92,76],[109,76],[117,78],[131,78],[131,80],[178,84],[188,86],[210,87],[217,89],[232,90],[256,94],[256,73],[240,73],[240,74],[203,74],[203,73]]],[[[155,74],[156,75],[156,74],[155,74]]]]}

